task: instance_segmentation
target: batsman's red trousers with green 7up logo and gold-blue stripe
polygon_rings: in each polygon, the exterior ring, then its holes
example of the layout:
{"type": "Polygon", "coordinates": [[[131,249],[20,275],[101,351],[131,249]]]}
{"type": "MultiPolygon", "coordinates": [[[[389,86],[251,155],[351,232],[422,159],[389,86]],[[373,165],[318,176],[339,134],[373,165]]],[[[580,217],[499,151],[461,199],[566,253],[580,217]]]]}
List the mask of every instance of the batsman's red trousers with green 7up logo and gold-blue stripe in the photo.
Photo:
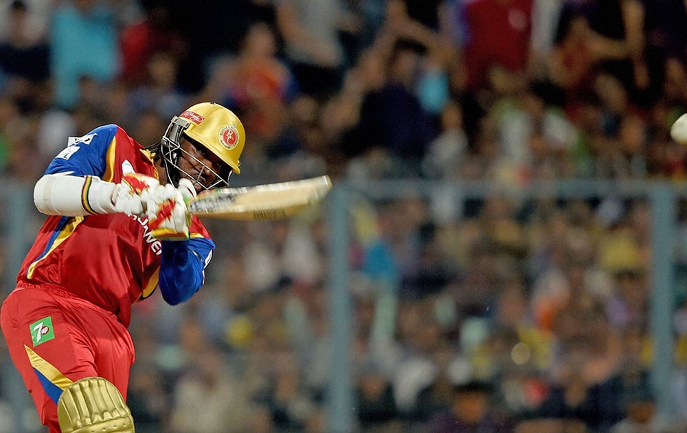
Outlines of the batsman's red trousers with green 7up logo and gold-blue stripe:
{"type": "Polygon", "coordinates": [[[57,401],[78,379],[103,377],[126,400],[134,348],[113,313],[56,286],[20,283],[3,302],[0,325],[12,362],[51,433],[60,432],[57,401]]]}

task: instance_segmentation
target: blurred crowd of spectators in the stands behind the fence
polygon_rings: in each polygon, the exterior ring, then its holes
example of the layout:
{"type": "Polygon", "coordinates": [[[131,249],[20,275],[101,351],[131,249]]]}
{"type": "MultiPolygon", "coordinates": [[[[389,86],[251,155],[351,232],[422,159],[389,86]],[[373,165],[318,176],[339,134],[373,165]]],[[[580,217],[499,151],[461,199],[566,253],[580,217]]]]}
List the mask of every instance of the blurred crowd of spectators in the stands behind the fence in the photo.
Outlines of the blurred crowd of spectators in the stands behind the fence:
{"type": "MultiPolygon", "coordinates": [[[[246,127],[234,186],[327,173],[360,187],[348,215],[357,430],[686,431],[687,201],[668,417],[649,376],[645,199],[442,193],[468,180],[684,181],[687,146],[668,135],[687,111],[684,1],[0,0],[0,11],[5,179],[34,181],[67,137],[100,124],[154,144],[208,100],[246,127]],[[438,188],[363,193],[390,179],[438,188]]],[[[324,216],[207,222],[218,250],[201,293],[135,306],[137,431],[327,432],[324,216]]]]}

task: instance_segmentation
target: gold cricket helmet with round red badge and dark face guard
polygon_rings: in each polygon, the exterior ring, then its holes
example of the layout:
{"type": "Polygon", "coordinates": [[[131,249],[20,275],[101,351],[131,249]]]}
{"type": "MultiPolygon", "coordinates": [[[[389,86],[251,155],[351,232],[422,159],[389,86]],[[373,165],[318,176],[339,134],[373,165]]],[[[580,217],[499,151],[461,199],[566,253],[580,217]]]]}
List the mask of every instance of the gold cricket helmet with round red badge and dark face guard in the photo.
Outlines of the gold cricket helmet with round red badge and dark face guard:
{"type": "Polygon", "coordinates": [[[181,176],[188,177],[194,184],[210,190],[229,186],[229,177],[234,171],[240,173],[238,157],[243,151],[245,133],[236,115],[221,105],[203,102],[174,116],[159,146],[168,180],[179,186],[181,176]],[[187,139],[199,153],[213,153],[221,159],[221,170],[208,166],[198,157],[181,146],[181,139],[187,139]],[[179,166],[181,155],[203,167],[198,175],[192,175],[179,166]],[[203,181],[204,173],[214,176],[211,184],[203,181]]]}

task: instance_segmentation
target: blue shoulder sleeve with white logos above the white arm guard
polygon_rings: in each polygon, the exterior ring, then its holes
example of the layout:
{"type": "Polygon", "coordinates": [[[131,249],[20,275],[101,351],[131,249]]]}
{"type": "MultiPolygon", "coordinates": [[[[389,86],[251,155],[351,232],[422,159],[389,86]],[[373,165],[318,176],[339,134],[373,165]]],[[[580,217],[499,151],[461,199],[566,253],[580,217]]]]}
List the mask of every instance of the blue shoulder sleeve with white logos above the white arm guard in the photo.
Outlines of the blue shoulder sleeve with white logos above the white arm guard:
{"type": "Polygon", "coordinates": [[[69,137],[69,143],[45,170],[46,175],[71,173],[74,176],[102,176],[106,153],[117,133],[113,124],[99,126],[83,137],[69,137]]]}

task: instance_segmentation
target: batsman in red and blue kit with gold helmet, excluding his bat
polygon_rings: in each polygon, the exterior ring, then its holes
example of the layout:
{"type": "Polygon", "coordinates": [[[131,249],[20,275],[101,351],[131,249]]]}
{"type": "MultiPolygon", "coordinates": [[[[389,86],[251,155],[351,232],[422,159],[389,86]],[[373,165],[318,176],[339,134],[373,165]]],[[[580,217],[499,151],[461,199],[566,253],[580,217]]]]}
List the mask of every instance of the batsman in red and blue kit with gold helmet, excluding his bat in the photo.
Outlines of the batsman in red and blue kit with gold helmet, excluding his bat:
{"type": "Polygon", "coordinates": [[[240,173],[240,120],[211,102],[144,147],[108,124],[70,138],[34,186],[47,219],[0,310],[12,362],[49,432],[134,432],[131,305],[157,287],[179,304],[215,244],[186,201],[240,173]]]}

